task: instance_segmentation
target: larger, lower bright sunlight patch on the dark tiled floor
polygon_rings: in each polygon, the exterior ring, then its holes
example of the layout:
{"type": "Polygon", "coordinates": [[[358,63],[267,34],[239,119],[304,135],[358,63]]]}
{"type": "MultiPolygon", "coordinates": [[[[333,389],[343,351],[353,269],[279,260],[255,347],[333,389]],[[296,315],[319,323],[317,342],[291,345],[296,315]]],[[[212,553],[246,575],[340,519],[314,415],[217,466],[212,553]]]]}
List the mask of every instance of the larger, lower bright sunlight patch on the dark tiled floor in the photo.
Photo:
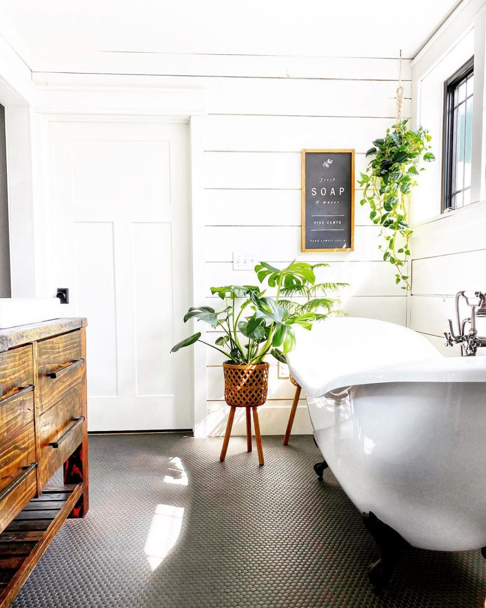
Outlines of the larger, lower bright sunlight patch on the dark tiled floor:
{"type": "Polygon", "coordinates": [[[176,544],[183,516],[182,506],[157,505],[144,548],[152,572],[176,544]]]}

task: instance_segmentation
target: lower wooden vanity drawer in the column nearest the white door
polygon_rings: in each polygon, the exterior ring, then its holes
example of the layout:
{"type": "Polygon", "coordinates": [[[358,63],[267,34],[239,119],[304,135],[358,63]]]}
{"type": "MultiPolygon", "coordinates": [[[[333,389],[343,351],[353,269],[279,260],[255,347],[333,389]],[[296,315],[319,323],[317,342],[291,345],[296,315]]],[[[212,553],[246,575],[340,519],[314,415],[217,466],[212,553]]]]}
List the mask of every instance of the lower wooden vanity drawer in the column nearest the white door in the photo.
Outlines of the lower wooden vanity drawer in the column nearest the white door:
{"type": "Polygon", "coordinates": [[[40,416],[39,444],[41,487],[52,477],[64,461],[83,441],[81,416],[81,386],[76,387],[62,401],[40,416]]]}

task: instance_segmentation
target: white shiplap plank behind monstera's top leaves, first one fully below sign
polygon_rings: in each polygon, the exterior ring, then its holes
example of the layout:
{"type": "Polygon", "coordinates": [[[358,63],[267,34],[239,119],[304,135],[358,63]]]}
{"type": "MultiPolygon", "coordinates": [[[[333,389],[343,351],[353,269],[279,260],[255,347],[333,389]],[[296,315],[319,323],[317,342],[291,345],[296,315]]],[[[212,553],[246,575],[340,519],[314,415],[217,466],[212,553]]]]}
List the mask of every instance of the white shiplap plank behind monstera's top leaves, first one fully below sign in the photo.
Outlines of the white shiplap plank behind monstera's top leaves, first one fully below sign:
{"type": "MultiPolygon", "coordinates": [[[[282,268],[284,264],[278,266],[282,268]]],[[[334,262],[330,263],[329,268],[317,269],[316,276],[318,282],[349,283],[349,287],[338,294],[343,303],[354,295],[405,295],[400,286],[396,285],[394,269],[388,262],[334,262]]],[[[206,264],[206,283],[208,297],[211,295],[211,286],[259,285],[254,271],[234,271],[233,264],[219,262],[206,264]]],[[[275,288],[268,288],[267,294],[275,295],[275,288]]]]}

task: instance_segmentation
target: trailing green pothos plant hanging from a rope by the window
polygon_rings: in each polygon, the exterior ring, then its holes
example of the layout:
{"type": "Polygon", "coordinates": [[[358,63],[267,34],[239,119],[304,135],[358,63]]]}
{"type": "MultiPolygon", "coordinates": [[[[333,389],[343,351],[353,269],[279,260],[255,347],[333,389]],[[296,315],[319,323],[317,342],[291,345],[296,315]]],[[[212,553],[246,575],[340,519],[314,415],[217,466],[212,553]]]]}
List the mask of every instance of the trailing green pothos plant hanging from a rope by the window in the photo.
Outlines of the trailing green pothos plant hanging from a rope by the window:
{"type": "MultiPolygon", "coordinates": [[[[383,260],[395,266],[397,285],[403,283],[402,289],[410,289],[409,275],[404,274],[408,261],[409,239],[413,233],[407,221],[408,198],[413,186],[417,185],[416,176],[420,161],[434,161],[434,154],[429,150],[431,136],[422,126],[408,129],[408,119],[400,120],[391,129],[386,130],[384,139],[375,139],[373,147],[366,156],[374,156],[361,173],[358,181],[364,187],[361,205],[368,204],[369,214],[374,224],[382,226],[380,236],[385,243],[383,260]]],[[[405,271],[406,272],[406,271],[405,271]]]]}

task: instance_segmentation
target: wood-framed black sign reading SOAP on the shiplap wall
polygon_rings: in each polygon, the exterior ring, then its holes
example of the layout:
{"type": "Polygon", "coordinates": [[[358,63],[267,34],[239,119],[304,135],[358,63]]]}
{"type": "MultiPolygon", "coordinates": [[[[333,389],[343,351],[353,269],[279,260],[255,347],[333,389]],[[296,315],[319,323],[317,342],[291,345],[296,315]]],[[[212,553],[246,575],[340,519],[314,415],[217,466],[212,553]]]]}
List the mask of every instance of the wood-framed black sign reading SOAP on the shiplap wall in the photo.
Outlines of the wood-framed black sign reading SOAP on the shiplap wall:
{"type": "Polygon", "coordinates": [[[302,151],[302,250],[354,249],[354,150],[302,151]]]}

